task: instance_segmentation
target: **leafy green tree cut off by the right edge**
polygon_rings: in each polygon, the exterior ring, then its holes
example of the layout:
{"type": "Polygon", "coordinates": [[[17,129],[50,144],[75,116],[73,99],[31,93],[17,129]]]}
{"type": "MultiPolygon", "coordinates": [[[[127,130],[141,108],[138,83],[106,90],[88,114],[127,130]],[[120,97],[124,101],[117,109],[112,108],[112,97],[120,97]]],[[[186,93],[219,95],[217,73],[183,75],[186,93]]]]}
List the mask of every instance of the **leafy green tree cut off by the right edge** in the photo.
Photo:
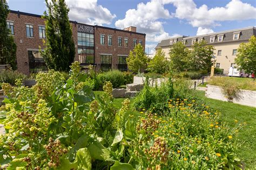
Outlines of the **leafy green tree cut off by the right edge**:
{"type": "Polygon", "coordinates": [[[239,70],[245,73],[256,73],[256,37],[252,36],[248,43],[241,43],[238,47],[235,63],[239,70]]]}

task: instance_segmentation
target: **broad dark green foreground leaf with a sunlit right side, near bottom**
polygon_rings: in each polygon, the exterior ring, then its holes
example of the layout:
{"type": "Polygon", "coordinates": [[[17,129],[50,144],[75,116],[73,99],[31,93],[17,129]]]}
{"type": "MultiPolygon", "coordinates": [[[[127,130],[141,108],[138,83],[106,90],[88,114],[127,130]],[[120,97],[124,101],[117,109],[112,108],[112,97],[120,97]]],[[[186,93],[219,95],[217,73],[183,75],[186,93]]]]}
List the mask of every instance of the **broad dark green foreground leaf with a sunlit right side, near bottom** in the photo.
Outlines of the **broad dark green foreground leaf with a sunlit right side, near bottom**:
{"type": "Polygon", "coordinates": [[[97,140],[92,141],[92,143],[87,148],[91,153],[92,159],[104,161],[110,159],[110,151],[97,140]]]}

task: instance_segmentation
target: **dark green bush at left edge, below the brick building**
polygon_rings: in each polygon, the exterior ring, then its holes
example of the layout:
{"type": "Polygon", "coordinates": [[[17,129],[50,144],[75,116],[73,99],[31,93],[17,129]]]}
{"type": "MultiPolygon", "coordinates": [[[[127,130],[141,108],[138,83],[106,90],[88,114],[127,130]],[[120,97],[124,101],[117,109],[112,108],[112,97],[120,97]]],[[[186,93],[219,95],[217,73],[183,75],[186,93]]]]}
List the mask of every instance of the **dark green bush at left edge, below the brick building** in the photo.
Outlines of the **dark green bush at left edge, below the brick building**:
{"type": "Polygon", "coordinates": [[[11,85],[15,85],[16,79],[24,79],[26,76],[22,73],[19,73],[17,70],[2,70],[0,72],[0,82],[1,83],[9,83],[11,85]]]}

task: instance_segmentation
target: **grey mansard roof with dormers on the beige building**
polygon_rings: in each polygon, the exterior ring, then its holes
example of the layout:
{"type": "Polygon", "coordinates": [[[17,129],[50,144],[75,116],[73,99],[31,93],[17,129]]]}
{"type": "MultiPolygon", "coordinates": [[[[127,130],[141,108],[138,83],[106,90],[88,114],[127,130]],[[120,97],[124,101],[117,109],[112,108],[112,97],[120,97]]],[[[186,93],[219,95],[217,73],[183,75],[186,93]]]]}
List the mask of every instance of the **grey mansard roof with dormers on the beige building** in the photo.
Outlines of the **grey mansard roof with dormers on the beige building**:
{"type": "Polygon", "coordinates": [[[255,27],[246,27],[242,29],[235,29],[235,30],[228,30],[228,31],[222,31],[222,32],[214,32],[211,34],[205,34],[205,35],[200,35],[200,36],[193,36],[193,37],[177,37],[177,38],[170,38],[170,39],[165,39],[159,42],[156,46],[156,48],[160,47],[166,47],[166,46],[171,46],[170,41],[173,39],[177,39],[178,41],[185,41],[186,46],[191,46],[192,45],[192,40],[198,40],[198,39],[204,39],[207,43],[209,44],[215,44],[215,43],[222,43],[222,42],[231,42],[231,41],[242,41],[242,40],[248,40],[250,39],[251,36],[256,36],[256,28],[255,27]],[[234,33],[239,33],[239,39],[238,40],[233,40],[233,34],[234,33]],[[218,42],[218,36],[223,36],[223,41],[218,42]],[[215,37],[214,42],[210,43],[210,38],[215,37]]]}

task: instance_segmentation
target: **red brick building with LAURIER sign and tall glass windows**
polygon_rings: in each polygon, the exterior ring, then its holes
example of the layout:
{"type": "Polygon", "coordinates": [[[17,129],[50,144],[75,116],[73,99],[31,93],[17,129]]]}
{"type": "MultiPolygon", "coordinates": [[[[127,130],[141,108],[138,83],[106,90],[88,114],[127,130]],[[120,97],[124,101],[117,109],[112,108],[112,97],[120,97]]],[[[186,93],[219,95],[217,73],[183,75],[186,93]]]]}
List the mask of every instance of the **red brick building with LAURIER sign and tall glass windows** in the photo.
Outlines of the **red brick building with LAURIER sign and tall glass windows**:
{"type": "MultiPolygon", "coordinates": [[[[47,71],[39,52],[44,49],[45,24],[40,15],[19,11],[10,11],[7,25],[17,45],[17,66],[24,74],[47,71]]],[[[73,41],[75,42],[75,60],[83,68],[96,66],[96,70],[127,70],[126,57],[140,43],[145,49],[146,34],[136,32],[136,27],[124,30],[98,25],[86,25],[70,21],[73,41]]]]}

